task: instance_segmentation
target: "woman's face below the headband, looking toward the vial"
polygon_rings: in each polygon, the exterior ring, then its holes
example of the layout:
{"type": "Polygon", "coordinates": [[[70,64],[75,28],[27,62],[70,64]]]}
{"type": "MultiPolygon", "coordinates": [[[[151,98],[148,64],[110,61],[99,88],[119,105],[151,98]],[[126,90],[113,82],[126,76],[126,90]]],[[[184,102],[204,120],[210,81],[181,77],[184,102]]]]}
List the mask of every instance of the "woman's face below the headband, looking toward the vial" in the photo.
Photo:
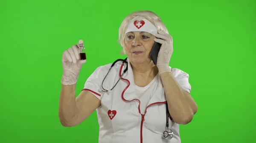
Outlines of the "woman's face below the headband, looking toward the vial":
{"type": "Polygon", "coordinates": [[[144,64],[152,62],[149,53],[154,45],[154,35],[148,32],[129,32],[125,35],[126,53],[131,63],[144,64]]]}

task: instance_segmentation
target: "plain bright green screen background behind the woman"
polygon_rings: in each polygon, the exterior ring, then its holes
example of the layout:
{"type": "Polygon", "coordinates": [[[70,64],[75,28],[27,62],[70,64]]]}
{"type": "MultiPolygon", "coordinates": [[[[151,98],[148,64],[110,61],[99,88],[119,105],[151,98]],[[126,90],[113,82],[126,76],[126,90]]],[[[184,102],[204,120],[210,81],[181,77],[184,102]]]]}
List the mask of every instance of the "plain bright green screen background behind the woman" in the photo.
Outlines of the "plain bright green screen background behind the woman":
{"type": "Polygon", "coordinates": [[[198,112],[182,143],[255,143],[255,0],[1,0],[0,143],[97,143],[96,112],[71,128],[58,119],[61,56],[84,40],[78,95],[96,67],[126,57],[118,28],[137,10],[162,18],[170,65],[189,73],[198,112]]]}

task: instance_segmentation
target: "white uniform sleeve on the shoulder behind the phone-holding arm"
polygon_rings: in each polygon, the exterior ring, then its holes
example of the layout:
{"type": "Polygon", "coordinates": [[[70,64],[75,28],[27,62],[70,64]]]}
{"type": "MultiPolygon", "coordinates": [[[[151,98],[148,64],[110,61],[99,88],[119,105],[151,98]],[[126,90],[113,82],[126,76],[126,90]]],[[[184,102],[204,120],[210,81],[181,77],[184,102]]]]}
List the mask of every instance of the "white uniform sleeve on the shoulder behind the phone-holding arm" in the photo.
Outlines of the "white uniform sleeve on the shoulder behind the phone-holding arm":
{"type": "Polygon", "coordinates": [[[178,84],[180,84],[180,87],[182,87],[186,92],[190,93],[191,85],[189,84],[189,74],[177,68],[173,68],[172,73],[178,84]]]}

